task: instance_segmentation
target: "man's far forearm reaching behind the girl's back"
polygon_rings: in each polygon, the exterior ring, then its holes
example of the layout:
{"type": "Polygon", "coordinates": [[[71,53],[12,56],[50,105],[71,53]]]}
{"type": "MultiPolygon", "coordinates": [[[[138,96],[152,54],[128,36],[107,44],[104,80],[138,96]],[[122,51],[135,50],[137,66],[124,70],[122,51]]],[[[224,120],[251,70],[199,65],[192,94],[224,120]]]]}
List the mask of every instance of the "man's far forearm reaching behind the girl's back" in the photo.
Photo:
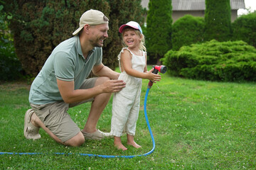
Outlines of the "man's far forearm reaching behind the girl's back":
{"type": "Polygon", "coordinates": [[[118,79],[119,77],[118,72],[114,72],[112,69],[105,66],[104,64],[93,67],[92,72],[98,77],[109,77],[110,79],[118,79]]]}

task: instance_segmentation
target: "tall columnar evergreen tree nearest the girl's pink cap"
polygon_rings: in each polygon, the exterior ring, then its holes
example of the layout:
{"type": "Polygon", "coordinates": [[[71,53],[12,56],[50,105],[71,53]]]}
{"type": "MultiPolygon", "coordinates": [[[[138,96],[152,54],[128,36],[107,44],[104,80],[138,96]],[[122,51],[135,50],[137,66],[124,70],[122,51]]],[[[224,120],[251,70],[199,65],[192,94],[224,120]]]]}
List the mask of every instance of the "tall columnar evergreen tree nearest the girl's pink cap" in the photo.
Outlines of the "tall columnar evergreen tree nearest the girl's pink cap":
{"type": "Polygon", "coordinates": [[[146,49],[156,64],[171,49],[171,0],[150,0],[146,17],[146,49]]]}

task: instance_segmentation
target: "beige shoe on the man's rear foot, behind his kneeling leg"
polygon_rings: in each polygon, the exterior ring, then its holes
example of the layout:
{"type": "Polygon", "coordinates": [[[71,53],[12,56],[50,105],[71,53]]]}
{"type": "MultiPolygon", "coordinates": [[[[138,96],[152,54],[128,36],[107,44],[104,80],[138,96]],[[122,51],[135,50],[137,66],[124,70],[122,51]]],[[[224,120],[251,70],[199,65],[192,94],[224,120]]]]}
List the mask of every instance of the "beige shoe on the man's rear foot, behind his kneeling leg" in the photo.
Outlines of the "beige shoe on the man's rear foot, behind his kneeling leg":
{"type": "Polygon", "coordinates": [[[31,123],[31,115],[33,114],[32,109],[28,109],[25,113],[24,118],[24,136],[28,140],[38,140],[41,138],[41,135],[38,133],[39,129],[38,127],[34,126],[31,123]]]}

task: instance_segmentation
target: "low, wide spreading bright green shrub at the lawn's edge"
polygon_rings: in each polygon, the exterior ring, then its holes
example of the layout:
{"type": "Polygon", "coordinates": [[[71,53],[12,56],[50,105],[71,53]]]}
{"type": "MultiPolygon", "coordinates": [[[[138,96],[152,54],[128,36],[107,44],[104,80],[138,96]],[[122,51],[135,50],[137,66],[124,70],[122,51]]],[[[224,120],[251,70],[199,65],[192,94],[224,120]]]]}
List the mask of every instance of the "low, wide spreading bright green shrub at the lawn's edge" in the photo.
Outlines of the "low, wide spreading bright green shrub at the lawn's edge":
{"type": "Polygon", "coordinates": [[[163,58],[176,77],[210,81],[256,81],[256,49],[243,41],[183,46],[163,58]]]}

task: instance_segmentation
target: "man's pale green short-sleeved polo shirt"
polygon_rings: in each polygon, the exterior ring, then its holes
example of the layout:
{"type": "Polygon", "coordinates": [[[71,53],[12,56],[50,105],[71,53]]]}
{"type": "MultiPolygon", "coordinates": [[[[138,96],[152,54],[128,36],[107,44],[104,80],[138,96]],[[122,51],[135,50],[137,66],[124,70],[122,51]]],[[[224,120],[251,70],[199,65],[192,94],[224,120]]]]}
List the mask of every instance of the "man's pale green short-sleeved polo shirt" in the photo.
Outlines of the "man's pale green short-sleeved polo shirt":
{"type": "Polygon", "coordinates": [[[29,102],[46,104],[63,101],[56,79],[74,81],[75,89],[79,89],[87,79],[92,67],[102,63],[102,48],[95,47],[87,59],[82,55],[78,36],[61,42],[50,54],[36,79],[31,85],[29,102]]]}

